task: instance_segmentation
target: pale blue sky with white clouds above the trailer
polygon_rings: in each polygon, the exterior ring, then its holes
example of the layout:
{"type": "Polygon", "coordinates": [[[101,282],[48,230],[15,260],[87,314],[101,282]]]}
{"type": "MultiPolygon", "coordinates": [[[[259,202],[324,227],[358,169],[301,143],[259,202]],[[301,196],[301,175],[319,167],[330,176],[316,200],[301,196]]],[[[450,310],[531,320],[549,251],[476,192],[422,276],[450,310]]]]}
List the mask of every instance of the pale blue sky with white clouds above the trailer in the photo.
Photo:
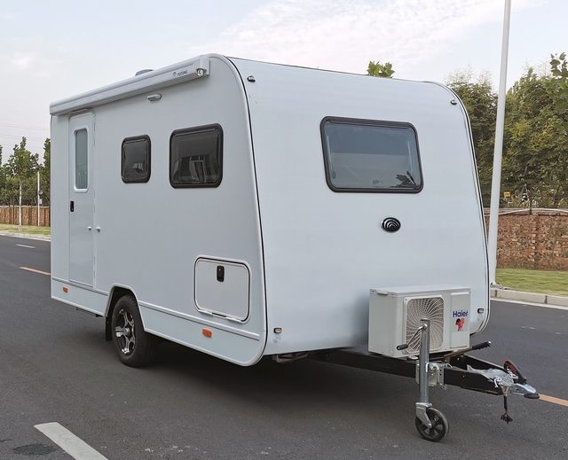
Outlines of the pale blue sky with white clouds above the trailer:
{"type": "MultiPolygon", "coordinates": [[[[0,144],[43,152],[49,105],[215,52],[447,82],[471,69],[499,85],[505,0],[0,0],[0,144]]],[[[568,51],[566,0],[512,0],[508,87],[568,51]]]]}

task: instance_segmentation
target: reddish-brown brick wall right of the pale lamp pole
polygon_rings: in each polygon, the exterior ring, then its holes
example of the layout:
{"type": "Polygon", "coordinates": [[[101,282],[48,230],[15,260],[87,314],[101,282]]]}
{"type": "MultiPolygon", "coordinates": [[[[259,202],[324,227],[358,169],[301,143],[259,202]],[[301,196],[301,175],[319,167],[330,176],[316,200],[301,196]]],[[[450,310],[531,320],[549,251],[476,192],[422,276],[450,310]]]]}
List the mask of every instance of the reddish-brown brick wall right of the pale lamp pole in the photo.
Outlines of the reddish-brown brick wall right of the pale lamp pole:
{"type": "MultiPolygon", "coordinates": [[[[568,213],[501,209],[497,266],[504,269],[568,270],[568,213]]],[[[485,216],[488,222],[488,216],[485,216]]]]}

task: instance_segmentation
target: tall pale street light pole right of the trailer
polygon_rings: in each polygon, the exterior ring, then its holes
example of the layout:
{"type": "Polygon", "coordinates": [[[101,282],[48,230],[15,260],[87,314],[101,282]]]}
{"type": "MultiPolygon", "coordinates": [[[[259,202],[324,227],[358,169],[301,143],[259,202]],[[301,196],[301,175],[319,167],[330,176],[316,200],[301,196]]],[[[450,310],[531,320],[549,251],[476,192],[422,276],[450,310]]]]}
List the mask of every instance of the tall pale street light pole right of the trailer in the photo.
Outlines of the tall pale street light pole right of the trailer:
{"type": "Polygon", "coordinates": [[[495,146],[493,150],[493,179],[491,182],[491,207],[489,211],[489,236],[487,252],[489,257],[489,282],[495,285],[497,269],[497,230],[499,226],[499,198],[501,195],[501,159],[503,155],[503,131],[505,126],[505,98],[507,96],[507,57],[509,53],[509,22],[511,0],[505,0],[503,18],[503,38],[501,43],[501,77],[497,98],[497,123],[495,126],[495,146]]]}

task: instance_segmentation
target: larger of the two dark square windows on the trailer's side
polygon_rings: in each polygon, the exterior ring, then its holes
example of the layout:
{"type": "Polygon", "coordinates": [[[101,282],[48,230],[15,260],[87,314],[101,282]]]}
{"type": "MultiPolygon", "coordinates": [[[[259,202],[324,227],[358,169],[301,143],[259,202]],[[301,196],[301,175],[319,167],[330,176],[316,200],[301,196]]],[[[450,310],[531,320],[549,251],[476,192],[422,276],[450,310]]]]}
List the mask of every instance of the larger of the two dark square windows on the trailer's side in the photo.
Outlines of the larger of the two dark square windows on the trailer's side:
{"type": "Polygon", "coordinates": [[[170,137],[172,187],[217,187],[223,175],[223,129],[179,129],[170,137]]]}

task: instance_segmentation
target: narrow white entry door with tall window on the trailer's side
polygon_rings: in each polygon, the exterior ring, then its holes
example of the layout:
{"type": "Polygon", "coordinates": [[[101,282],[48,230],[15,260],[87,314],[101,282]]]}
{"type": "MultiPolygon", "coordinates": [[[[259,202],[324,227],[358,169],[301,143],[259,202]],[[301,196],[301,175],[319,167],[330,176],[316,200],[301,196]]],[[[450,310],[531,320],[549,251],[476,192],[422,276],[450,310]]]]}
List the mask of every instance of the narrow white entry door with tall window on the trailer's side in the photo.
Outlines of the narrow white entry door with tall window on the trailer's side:
{"type": "Polygon", "coordinates": [[[93,285],[94,116],[69,121],[69,281],[93,285]]]}

